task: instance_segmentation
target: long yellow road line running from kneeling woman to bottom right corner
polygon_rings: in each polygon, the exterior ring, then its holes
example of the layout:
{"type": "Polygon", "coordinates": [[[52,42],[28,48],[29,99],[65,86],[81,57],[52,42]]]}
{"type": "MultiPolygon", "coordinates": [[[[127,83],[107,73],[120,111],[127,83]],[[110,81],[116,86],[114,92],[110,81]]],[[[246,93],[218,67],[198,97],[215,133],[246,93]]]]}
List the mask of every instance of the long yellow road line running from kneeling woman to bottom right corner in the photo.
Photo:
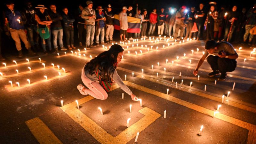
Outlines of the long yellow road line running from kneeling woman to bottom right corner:
{"type": "MultiPolygon", "coordinates": [[[[161,92],[157,92],[155,90],[152,90],[152,89],[149,89],[147,87],[144,87],[144,86],[141,86],[141,85],[138,85],[138,84],[134,84],[134,83],[131,83],[131,82],[128,82],[128,81],[125,81],[124,82],[126,85],[134,88],[134,89],[138,89],[142,92],[147,92],[147,93],[150,93],[150,94],[153,94],[153,95],[156,95],[160,98],[163,98],[165,100],[169,100],[169,101],[172,101],[174,103],[177,103],[179,105],[182,105],[184,107],[187,107],[187,108],[190,108],[190,109],[193,109],[195,111],[198,111],[200,113],[203,113],[205,115],[208,115],[208,116],[212,116],[213,117],[213,113],[214,111],[210,110],[210,109],[207,109],[207,108],[204,108],[204,107],[201,107],[201,106],[198,106],[196,104],[193,104],[193,103],[190,103],[190,102],[187,102],[185,100],[180,100],[178,98],[175,98],[171,95],[167,95],[165,93],[161,93],[161,92]]],[[[242,127],[244,129],[247,129],[249,130],[249,133],[248,133],[248,139],[247,139],[247,144],[253,144],[256,142],[256,125],[253,125],[253,124],[250,124],[250,123],[247,123],[247,122],[244,122],[242,120],[239,120],[239,119],[236,119],[236,118],[233,118],[233,117],[230,117],[230,116],[227,116],[227,115],[224,115],[224,114],[221,114],[221,113],[218,113],[215,115],[215,118],[218,118],[220,120],[223,120],[225,122],[228,122],[228,123],[231,123],[231,124],[234,124],[234,125],[237,125],[239,127],[242,127]]]]}

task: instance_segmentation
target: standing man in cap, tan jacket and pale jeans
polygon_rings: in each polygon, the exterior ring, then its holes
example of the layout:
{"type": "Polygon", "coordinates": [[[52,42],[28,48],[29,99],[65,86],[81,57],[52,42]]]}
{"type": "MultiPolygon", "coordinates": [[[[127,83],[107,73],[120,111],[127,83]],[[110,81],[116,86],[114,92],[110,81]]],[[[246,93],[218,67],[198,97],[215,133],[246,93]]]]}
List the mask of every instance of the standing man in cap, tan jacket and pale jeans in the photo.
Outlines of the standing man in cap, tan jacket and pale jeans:
{"type": "Polygon", "coordinates": [[[82,18],[86,22],[86,48],[95,47],[93,44],[95,33],[96,12],[92,9],[92,1],[86,1],[87,7],[82,11],[82,18]]]}

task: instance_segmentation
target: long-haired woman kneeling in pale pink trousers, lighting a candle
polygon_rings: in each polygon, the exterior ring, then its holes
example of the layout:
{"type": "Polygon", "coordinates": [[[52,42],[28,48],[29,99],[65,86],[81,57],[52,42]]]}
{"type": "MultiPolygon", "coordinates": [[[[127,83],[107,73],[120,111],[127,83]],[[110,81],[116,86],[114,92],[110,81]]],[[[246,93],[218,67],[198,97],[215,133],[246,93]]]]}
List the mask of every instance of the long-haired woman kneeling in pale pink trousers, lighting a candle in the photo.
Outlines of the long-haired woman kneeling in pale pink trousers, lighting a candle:
{"type": "Polygon", "coordinates": [[[106,100],[110,85],[112,82],[116,82],[124,92],[128,93],[132,100],[137,101],[138,98],[132,93],[132,91],[123,83],[120,76],[116,72],[118,63],[122,60],[124,55],[124,49],[118,44],[114,44],[108,51],[100,53],[96,58],[90,62],[86,62],[82,69],[82,84],[77,85],[77,89],[83,95],[91,95],[96,99],[106,100]],[[99,82],[100,81],[100,84],[99,82]],[[101,86],[103,85],[103,86],[101,86]]]}

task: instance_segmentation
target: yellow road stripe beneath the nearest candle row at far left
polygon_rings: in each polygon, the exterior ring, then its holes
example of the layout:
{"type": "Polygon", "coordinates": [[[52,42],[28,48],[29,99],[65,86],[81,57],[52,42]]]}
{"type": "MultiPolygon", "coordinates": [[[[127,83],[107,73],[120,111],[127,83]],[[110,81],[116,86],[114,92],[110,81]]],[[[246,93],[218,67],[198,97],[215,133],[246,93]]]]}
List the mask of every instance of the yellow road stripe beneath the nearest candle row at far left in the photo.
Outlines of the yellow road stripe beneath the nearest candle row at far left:
{"type": "Polygon", "coordinates": [[[11,84],[5,85],[4,87],[5,87],[5,89],[8,92],[12,92],[12,91],[20,90],[20,89],[23,89],[23,88],[26,88],[26,87],[30,87],[30,86],[33,86],[33,85],[36,85],[36,84],[41,84],[41,83],[49,82],[51,80],[54,80],[54,79],[57,79],[57,78],[60,78],[60,77],[69,76],[69,75],[71,75],[71,73],[66,72],[66,73],[62,73],[60,76],[58,74],[58,76],[48,77],[48,80],[43,79],[43,80],[36,81],[36,82],[33,82],[31,80],[31,84],[28,84],[28,83],[26,83],[24,85],[21,84],[20,87],[16,86],[15,84],[13,84],[13,87],[11,86],[11,84]]]}

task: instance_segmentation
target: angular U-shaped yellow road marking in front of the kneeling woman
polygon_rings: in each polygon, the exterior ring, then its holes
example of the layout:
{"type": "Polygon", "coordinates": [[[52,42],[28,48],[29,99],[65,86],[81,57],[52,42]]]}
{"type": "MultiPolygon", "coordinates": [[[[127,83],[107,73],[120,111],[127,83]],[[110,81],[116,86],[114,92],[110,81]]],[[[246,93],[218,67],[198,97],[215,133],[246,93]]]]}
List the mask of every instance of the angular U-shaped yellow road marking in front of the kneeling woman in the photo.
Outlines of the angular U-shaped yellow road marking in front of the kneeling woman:
{"type": "MultiPolygon", "coordinates": [[[[114,85],[113,90],[117,89],[119,86],[114,85]]],[[[78,100],[79,104],[83,104],[89,100],[94,99],[92,96],[86,96],[78,100]]],[[[98,124],[96,124],[92,119],[84,115],[79,109],[76,108],[76,102],[69,103],[60,107],[69,117],[71,117],[76,123],[80,124],[87,132],[89,132],[96,140],[100,143],[106,144],[125,144],[134,138],[137,132],[143,131],[150,124],[156,121],[161,115],[150,108],[142,108],[139,112],[143,115],[139,121],[132,124],[126,128],[123,132],[113,137],[104,129],[102,129],[98,124]]],[[[104,115],[103,115],[104,116],[104,115]]],[[[126,124],[126,121],[124,122],[126,124]]]]}

